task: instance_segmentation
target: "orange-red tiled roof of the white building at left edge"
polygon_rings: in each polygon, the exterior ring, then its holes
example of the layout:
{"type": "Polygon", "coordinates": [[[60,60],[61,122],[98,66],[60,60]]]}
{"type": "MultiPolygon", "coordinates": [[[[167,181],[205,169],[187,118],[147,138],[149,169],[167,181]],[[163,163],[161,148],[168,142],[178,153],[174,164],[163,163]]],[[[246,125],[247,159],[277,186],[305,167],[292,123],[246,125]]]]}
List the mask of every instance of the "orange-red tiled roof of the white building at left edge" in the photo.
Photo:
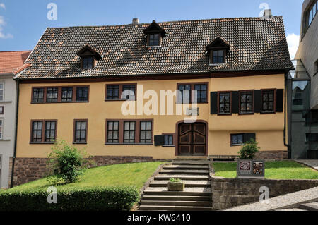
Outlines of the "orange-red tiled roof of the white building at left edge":
{"type": "Polygon", "coordinates": [[[13,73],[23,66],[31,51],[0,51],[0,74],[13,73]]]}

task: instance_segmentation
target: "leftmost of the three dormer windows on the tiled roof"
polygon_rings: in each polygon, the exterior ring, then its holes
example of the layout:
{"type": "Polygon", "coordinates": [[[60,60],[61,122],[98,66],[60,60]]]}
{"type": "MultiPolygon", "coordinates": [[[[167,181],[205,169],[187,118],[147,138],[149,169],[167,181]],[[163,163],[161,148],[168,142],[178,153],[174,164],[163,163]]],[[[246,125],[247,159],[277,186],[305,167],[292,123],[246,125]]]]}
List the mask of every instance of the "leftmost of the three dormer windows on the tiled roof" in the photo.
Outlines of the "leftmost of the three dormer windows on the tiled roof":
{"type": "Polygon", "coordinates": [[[81,57],[81,69],[90,70],[97,66],[97,63],[102,57],[92,47],[86,44],[81,50],[77,52],[81,57]]]}

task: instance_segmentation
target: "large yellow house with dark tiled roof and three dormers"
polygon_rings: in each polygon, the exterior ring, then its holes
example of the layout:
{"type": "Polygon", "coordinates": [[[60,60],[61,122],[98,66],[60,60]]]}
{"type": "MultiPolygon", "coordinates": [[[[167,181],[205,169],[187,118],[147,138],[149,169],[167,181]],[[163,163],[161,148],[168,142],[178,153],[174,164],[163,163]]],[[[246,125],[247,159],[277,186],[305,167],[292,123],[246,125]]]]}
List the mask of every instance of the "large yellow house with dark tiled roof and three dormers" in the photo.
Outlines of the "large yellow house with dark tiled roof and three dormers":
{"type": "Polygon", "coordinates": [[[43,176],[56,138],[99,165],[234,159],[250,138],[287,157],[281,16],[134,21],[45,30],[17,78],[15,184],[43,176]]]}

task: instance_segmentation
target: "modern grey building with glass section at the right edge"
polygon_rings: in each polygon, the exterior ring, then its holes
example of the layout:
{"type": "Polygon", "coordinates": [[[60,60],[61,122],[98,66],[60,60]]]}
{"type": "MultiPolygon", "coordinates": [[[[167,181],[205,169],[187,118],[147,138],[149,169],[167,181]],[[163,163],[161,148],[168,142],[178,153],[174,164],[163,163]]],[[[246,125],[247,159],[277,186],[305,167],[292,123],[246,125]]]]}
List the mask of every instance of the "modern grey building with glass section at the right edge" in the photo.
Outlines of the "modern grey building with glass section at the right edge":
{"type": "Polygon", "coordinates": [[[292,159],[318,159],[318,2],[302,4],[300,44],[290,73],[292,159]]]}

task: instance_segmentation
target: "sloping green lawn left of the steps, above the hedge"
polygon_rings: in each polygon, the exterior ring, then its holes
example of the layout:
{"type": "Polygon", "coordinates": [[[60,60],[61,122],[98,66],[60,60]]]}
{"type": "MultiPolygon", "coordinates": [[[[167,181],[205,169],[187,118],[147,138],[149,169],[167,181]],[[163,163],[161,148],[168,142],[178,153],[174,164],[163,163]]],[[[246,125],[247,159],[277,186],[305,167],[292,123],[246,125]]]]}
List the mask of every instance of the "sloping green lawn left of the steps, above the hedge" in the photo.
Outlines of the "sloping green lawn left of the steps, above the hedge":
{"type": "MultiPolygon", "coordinates": [[[[143,184],[155,172],[163,162],[140,162],[130,164],[115,164],[110,166],[100,166],[92,169],[86,169],[75,183],[64,184],[62,188],[82,188],[82,187],[100,187],[100,186],[134,186],[142,188],[143,184]]],[[[47,178],[25,183],[8,191],[20,191],[33,188],[45,188],[52,186],[47,178]]]]}

